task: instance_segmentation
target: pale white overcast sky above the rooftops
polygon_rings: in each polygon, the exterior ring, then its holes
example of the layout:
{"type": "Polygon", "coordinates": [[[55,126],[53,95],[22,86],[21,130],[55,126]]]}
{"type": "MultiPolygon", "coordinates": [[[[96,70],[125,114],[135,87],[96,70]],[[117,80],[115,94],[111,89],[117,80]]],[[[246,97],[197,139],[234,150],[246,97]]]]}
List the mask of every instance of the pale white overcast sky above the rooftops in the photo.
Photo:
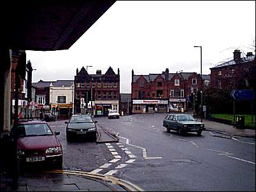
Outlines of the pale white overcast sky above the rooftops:
{"type": "Polygon", "coordinates": [[[120,68],[120,92],[131,92],[134,74],[203,74],[231,60],[233,51],[251,51],[255,42],[255,1],[117,1],[69,50],[26,51],[32,82],[74,79],[120,68]]]}

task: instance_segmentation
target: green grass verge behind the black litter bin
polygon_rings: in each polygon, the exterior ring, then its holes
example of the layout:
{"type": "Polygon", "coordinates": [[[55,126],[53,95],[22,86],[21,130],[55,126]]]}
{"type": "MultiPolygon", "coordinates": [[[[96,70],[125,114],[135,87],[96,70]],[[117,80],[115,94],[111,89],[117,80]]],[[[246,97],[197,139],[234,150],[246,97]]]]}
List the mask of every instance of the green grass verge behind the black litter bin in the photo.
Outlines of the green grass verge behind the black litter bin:
{"type": "MultiPolygon", "coordinates": [[[[213,118],[231,120],[234,123],[234,114],[211,114],[211,116],[213,116],[213,118]]],[[[251,114],[236,114],[236,116],[245,116],[245,126],[255,128],[255,115],[252,116],[251,114]]]]}

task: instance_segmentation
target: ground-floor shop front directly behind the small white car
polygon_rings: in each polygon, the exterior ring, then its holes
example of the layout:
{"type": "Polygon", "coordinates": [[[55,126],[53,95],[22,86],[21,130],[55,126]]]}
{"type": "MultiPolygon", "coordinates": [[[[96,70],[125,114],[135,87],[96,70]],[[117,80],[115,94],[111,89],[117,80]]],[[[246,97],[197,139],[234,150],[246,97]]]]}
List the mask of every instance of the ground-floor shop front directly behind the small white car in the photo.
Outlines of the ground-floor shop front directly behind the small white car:
{"type": "Polygon", "coordinates": [[[94,116],[108,116],[110,109],[119,108],[118,100],[96,100],[94,104],[94,116]]]}

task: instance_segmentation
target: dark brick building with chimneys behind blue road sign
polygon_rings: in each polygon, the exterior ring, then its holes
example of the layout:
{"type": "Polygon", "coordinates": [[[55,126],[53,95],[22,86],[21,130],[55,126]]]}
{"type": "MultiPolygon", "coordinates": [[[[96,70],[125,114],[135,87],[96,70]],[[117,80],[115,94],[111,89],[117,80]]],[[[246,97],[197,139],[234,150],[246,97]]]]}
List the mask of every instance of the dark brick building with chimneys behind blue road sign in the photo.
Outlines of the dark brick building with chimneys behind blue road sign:
{"type": "Polygon", "coordinates": [[[255,55],[248,52],[246,57],[241,57],[239,50],[233,54],[232,60],[210,68],[211,86],[222,90],[254,88],[255,55]]]}

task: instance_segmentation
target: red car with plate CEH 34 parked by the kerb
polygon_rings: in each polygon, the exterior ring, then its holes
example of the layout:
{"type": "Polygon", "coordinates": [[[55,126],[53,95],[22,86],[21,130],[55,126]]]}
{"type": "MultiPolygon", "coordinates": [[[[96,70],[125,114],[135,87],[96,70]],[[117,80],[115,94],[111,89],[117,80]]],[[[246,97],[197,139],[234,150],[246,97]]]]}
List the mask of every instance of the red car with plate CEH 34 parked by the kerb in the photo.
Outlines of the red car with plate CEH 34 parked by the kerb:
{"type": "Polygon", "coordinates": [[[17,138],[18,158],[21,164],[46,163],[62,167],[62,146],[45,121],[18,121],[11,129],[11,138],[17,138]]]}

